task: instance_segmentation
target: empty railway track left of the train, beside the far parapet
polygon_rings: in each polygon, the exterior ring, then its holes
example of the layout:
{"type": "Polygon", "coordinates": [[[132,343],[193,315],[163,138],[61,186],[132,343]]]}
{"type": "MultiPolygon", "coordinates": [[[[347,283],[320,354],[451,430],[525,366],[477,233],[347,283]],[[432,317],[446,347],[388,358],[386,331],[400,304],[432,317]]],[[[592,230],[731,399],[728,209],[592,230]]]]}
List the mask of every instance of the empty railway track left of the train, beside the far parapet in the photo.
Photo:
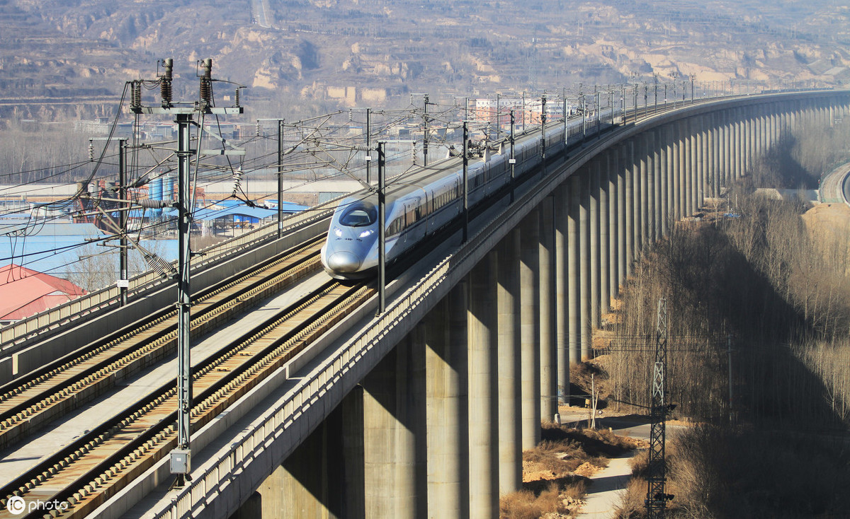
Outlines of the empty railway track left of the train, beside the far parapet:
{"type": "MultiPolygon", "coordinates": [[[[193,338],[222,326],[258,299],[279,293],[320,268],[320,239],[286,251],[236,279],[196,296],[193,338]]],[[[163,310],[127,326],[72,360],[48,366],[0,389],[0,449],[114,388],[177,348],[177,315],[163,310]]]]}

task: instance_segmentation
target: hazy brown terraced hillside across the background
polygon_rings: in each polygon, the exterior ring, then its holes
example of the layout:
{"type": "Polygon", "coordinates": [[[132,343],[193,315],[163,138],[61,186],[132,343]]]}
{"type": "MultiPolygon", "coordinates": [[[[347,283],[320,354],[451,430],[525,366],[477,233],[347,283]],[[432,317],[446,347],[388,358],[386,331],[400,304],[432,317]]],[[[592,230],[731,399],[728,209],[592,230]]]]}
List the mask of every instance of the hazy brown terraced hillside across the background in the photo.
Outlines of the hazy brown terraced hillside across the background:
{"type": "Polygon", "coordinates": [[[189,80],[176,97],[194,98],[195,61],[212,58],[217,78],[249,86],[246,103],[287,110],[654,75],[835,85],[850,76],[848,15],[828,0],[3,0],[0,115],[108,113],[167,57],[189,80]]]}

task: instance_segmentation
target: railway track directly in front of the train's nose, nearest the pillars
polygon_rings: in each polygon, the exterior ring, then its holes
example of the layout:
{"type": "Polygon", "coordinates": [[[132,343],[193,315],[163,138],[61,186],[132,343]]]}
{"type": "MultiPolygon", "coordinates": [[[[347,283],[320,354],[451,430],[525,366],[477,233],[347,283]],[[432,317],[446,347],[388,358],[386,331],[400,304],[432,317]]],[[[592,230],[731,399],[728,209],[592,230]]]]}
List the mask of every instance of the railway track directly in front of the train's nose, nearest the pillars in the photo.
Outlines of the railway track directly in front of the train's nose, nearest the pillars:
{"type": "MultiPolygon", "coordinates": [[[[218,416],[372,293],[372,289],[363,286],[326,282],[287,310],[246,332],[223,353],[195,367],[192,430],[218,416]]],[[[27,502],[40,499],[65,506],[61,511],[27,511],[21,516],[88,515],[174,448],[175,393],[173,379],[42,460],[3,487],[0,506],[8,504],[6,496],[15,495],[27,502]]]]}

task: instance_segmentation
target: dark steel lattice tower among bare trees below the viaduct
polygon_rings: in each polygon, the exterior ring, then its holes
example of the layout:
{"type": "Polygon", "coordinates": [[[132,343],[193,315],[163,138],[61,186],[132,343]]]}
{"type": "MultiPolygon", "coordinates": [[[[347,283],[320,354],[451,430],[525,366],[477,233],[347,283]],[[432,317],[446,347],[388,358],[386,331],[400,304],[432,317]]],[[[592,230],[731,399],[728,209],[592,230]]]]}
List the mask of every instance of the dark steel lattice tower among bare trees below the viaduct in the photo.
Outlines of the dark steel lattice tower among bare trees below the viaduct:
{"type": "MultiPolygon", "coordinates": [[[[652,369],[651,410],[649,411],[649,463],[647,465],[646,504],[649,519],[663,519],[667,501],[666,494],[666,371],[667,371],[667,302],[658,300],[657,330],[655,332],[655,364],[652,369]]],[[[671,407],[672,409],[672,407],[671,407]]]]}

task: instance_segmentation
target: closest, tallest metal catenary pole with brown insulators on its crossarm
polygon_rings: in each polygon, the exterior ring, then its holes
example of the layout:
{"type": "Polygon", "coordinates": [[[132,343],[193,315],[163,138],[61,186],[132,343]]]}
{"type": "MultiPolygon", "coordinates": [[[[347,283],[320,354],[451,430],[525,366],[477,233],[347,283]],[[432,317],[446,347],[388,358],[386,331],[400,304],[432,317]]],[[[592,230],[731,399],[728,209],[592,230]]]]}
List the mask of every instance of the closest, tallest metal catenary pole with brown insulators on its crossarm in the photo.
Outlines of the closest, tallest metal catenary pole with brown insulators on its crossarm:
{"type": "MultiPolygon", "coordinates": [[[[190,412],[192,406],[192,381],[190,364],[190,159],[195,153],[216,153],[224,155],[244,154],[239,149],[222,149],[218,152],[192,149],[190,129],[193,124],[192,116],[197,114],[241,114],[244,109],[239,106],[238,88],[236,106],[229,108],[213,108],[212,106],[212,59],[201,62],[200,100],[189,103],[173,103],[173,59],[163,60],[164,72],[160,77],[161,106],[143,106],[141,103],[142,81],[133,81],[133,101],[130,110],[134,114],[167,114],[173,115],[178,126],[178,374],[177,374],[177,448],[171,451],[171,473],[178,476],[178,484],[182,485],[191,471],[190,412]]],[[[280,204],[280,200],[278,200],[280,204]]]]}

